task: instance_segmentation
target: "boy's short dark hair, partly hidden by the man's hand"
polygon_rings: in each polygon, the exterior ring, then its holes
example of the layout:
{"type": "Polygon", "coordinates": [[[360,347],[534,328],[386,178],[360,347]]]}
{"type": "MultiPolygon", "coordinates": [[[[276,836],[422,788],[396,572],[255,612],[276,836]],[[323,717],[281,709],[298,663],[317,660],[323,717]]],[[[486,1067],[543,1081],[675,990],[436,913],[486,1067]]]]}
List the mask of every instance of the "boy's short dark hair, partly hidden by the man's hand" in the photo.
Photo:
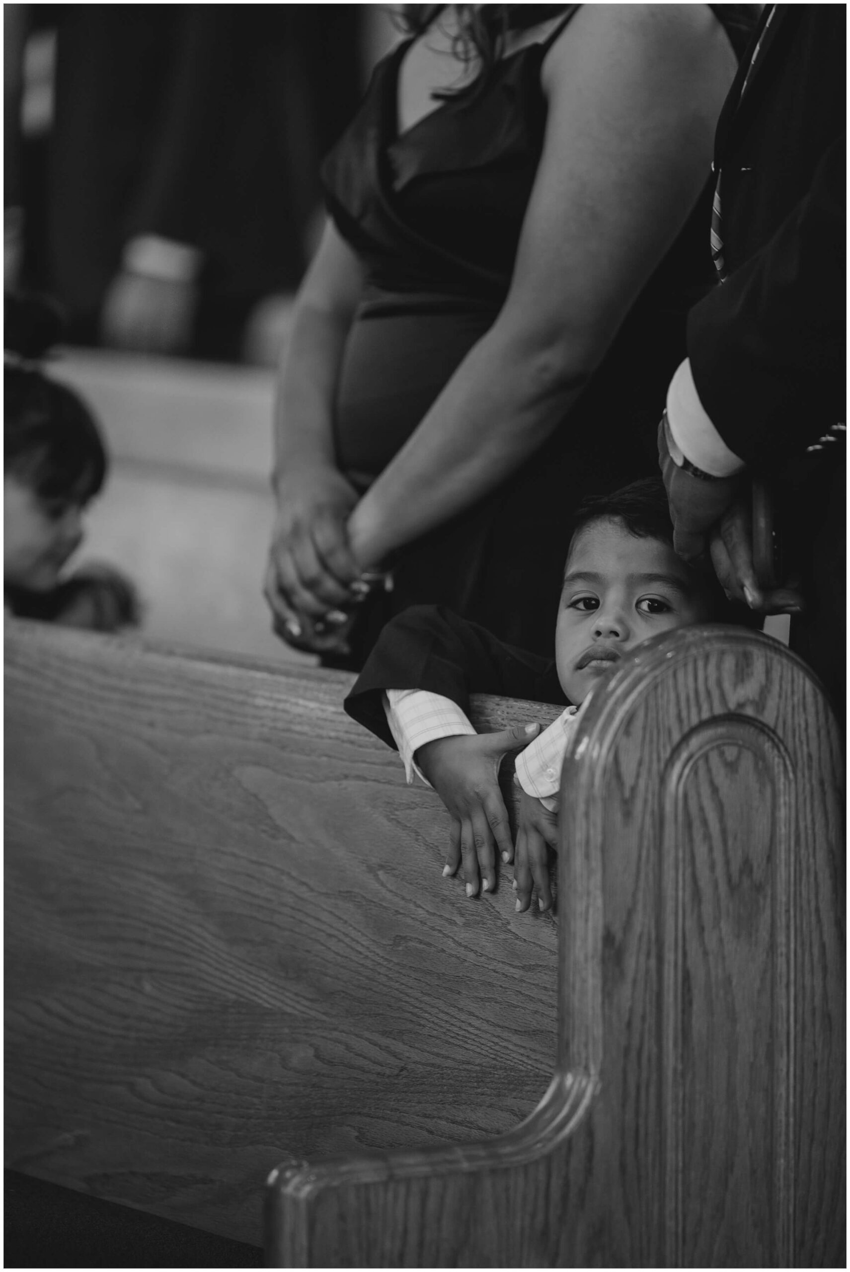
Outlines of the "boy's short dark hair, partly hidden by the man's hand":
{"type": "MultiPolygon", "coordinates": [[[[632,481],[629,486],[621,486],[620,490],[615,490],[610,495],[590,495],[582,500],[573,516],[570,546],[580,530],[593,522],[602,520],[622,522],[635,538],[660,539],[663,543],[673,546],[673,523],[660,473],[658,477],[632,481]]],[[[729,600],[718,583],[714,570],[702,571],[693,567],[693,575],[706,593],[714,622],[746,627],[761,626],[761,614],[753,614],[747,605],[738,600],[729,600]]]]}

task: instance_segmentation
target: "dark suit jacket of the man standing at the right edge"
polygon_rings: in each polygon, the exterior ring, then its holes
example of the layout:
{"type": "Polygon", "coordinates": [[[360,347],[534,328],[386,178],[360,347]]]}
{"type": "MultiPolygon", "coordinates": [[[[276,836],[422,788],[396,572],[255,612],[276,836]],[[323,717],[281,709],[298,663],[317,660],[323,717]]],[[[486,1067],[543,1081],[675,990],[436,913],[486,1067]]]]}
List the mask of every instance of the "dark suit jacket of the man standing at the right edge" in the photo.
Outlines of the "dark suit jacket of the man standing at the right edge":
{"type": "Polygon", "coordinates": [[[845,38],[844,5],[776,6],[718,123],[727,280],[691,310],[687,347],[702,406],[753,468],[845,418],[845,38]]]}

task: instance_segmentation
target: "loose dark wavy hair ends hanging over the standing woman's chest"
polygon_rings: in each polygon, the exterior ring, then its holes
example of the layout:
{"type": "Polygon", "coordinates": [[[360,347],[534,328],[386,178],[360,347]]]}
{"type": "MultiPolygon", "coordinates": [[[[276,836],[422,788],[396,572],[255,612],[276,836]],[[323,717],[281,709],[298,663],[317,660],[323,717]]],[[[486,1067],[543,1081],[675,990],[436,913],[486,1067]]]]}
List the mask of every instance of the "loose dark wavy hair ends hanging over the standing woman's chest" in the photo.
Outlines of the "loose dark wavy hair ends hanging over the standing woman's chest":
{"type": "MultiPolygon", "coordinates": [[[[421,36],[431,25],[434,19],[448,5],[442,4],[406,4],[401,6],[400,23],[403,31],[411,36],[421,36]]],[[[457,97],[459,93],[476,92],[486,84],[492,67],[496,65],[505,46],[505,37],[509,31],[524,31],[528,27],[537,27],[542,22],[550,22],[574,5],[557,4],[458,4],[454,9],[458,14],[458,33],[454,37],[453,52],[462,62],[470,62],[473,57],[481,61],[481,69],[475,80],[462,89],[442,89],[433,95],[435,98],[457,97]]]]}

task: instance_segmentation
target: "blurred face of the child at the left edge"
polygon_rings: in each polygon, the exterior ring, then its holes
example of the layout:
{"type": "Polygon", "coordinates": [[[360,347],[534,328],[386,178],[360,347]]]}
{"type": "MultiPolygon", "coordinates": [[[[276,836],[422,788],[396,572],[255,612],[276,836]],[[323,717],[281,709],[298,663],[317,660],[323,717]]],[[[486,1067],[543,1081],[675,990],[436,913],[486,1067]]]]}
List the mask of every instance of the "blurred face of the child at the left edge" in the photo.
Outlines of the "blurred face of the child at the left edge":
{"type": "Polygon", "coordinates": [[[66,499],[41,499],[11,476],[3,486],[4,580],[31,591],[50,591],[83,538],[81,506],[66,499]]]}

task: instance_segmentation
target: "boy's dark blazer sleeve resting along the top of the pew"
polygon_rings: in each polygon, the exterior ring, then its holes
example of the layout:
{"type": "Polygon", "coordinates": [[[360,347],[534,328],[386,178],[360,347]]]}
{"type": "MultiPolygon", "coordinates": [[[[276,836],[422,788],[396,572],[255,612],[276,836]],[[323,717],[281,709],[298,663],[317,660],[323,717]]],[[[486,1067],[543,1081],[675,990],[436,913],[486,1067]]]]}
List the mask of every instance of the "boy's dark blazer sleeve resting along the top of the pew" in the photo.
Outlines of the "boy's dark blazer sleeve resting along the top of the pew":
{"type": "Polygon", "coordinates": [[[443,605],[412,605],[387,623],[345,700],[345,710],[389,747],[386,689],[428,689],[470,714],[471,693],[566,706],[554,659],[505,645],[443,605]]]}

